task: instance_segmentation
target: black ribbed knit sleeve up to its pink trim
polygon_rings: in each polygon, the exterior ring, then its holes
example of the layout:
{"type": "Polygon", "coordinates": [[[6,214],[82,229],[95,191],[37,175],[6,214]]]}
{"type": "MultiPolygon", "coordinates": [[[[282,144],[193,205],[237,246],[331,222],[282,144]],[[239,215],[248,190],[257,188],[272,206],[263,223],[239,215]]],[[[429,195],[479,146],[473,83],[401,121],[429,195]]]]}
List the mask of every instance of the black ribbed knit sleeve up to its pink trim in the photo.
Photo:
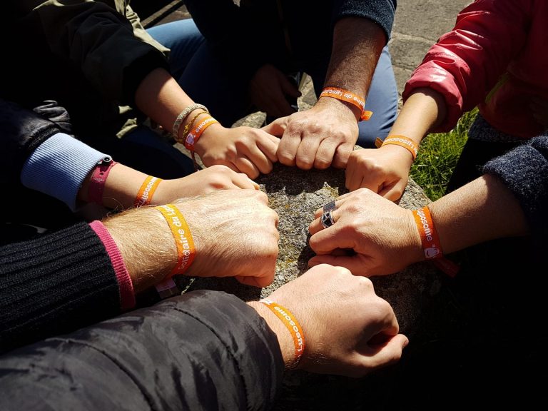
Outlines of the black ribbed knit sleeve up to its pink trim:
{"type": "Polygon", "coordinates": [[[106,249],[86,223],[0,247],[0,352],[120,313],[106,249]]]}

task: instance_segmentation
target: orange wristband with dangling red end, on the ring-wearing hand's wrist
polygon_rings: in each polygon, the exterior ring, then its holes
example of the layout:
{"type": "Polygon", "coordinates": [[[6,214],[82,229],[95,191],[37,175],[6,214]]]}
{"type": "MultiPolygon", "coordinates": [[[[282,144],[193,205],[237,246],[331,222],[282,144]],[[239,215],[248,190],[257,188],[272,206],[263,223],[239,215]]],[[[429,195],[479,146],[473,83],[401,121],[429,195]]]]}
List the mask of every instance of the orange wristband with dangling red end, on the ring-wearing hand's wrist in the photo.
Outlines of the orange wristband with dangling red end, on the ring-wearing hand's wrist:
{"type": "Polygon", "coordinates": [[[432,260],[433,263],[450,277],[455,277],[460,270],[460,267],[443,256],[440,238],[437,236],[437,231],[434,228],[430,208],[427,206],[413,210],[413,217],[419,230],[422,250],[424,250],[425,258],[432,260]]]}

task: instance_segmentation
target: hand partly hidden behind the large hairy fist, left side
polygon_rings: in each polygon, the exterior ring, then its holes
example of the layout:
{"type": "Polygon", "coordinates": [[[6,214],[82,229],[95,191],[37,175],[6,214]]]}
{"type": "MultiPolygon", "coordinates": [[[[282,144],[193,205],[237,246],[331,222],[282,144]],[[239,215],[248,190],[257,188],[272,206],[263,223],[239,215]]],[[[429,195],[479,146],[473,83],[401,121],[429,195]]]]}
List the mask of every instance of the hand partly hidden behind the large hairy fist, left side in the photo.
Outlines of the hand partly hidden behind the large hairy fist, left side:
{"type": "Polygon", "coordinates": [[[154,193],[155,204],[167,204],[178,198],[190,198],[217,190],[235,188],[259,189],[255,181],[243,173],[236,173],[226,166],[211,166],[183,178],[164,180],[154,193]]]}

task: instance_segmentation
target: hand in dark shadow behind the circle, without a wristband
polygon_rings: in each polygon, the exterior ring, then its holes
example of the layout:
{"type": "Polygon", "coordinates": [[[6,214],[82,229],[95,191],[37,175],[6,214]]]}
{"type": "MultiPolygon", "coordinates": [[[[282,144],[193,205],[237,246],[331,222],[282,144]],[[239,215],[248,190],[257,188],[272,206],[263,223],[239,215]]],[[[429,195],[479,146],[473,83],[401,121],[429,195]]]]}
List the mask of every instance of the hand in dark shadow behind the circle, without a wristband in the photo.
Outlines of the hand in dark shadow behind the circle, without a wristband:
{"type": "Polygon", "coordinates": [[[258,110],[274,117],[289,116],[295,112],[286,96],[300,97],[297,86],[272,64],[265,64],[255,72],[249,83],[248,93],[251,103],[258,110]]]}

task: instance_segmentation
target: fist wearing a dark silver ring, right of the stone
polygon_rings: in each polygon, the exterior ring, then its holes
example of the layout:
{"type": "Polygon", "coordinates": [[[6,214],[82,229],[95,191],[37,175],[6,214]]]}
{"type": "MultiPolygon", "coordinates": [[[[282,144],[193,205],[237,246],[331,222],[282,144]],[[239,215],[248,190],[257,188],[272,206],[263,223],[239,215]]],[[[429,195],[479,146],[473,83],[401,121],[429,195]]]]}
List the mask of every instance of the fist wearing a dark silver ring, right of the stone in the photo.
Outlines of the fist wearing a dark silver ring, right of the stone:
{"type": "Polygon", "coordinates": [[[323,228],[321,208],[310,223],[310,247],[317,255],[310,258],[309,266],[338,265],[354,275],[370,277],[396,273],[424,260],[411,210],[367,188],[340,196],[335,205],[333,225],[323,228]],[[341,250],[351,250],[351,255],[340,255],[341,250]]]}

